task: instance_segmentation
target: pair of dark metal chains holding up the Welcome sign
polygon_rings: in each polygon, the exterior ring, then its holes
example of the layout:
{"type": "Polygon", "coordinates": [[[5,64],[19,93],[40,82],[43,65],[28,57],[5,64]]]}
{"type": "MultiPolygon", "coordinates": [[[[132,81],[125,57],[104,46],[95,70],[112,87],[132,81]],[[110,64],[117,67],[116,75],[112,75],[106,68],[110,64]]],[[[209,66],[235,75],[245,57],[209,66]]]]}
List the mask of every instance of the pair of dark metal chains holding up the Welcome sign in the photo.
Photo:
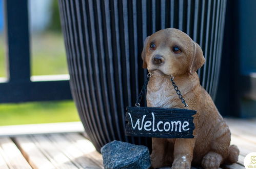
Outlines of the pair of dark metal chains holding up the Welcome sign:
{"type": "MultiPolygon", "coordinates": [[[[135,106],[136,107],[141,107],[141,99],[144,95],[144,92],[146,91],[146,88],[147,88],[147,85],[148,85],[148,81],[149,81],[149,78],[151,77],[151,73],[148,73],[147,75],[147,79],[146,81],[144,82],[144,85],[142,87],[142,90],[141,90],[141,93],[140,95],[137,97],[137,100],[136,100],[136,103],[135,103],[135,106]]],[[[178,94],[179,98],[181,99],[181,102],[184,104],[184,109],[188,109],[188,104],[185,102],[183,96],[181,95],[181,91],[179,90],[178,86],[176,86],[175,82],[173,81],[174,77],[171,75],[170,77],[170,81],[172,82],[172,86],[174,87],[174,90],[176,91],[176,93],[178,94]]]]}

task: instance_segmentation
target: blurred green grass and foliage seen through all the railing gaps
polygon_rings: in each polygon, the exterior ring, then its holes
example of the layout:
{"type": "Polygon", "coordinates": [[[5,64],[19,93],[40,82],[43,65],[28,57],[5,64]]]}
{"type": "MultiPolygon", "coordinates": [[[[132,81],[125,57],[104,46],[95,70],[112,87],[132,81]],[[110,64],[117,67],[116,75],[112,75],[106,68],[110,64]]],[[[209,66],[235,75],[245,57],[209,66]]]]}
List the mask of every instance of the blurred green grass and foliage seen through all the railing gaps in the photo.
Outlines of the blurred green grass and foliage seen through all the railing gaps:
{"type": "MultiPolygon", "coordinates": [[[[67,74],[57,1],[45,32],[31,34],[31,75],[67,74]]],[[[6,76],[4,37],[0,34],[0,77],[6,76]]],[[[79,121],[74,102],[48,101],[0,104],[0,125],[79,121]]]]}

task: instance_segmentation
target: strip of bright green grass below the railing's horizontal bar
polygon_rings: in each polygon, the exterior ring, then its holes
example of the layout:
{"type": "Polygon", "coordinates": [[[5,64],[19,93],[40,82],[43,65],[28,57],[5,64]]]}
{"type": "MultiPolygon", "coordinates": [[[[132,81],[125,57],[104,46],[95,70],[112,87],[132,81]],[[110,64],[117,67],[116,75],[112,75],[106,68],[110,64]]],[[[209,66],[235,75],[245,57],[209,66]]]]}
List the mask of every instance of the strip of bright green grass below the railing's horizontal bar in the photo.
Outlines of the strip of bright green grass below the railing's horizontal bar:
{"type": "Polygon", "coordinates": [[[0,125],[79,120],[72,101],[0,104],[0,125]]]}

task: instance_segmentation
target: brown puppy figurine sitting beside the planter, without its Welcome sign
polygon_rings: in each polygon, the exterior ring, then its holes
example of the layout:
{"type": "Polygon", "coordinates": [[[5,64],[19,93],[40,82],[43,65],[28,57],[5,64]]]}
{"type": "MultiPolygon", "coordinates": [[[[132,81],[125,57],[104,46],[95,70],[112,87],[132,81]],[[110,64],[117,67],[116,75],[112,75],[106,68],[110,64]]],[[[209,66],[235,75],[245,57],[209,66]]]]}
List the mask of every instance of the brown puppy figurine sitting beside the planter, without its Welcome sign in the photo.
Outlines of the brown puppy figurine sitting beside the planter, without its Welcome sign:
{"type": "Polygon", "coordinates": [[[196,70],[204,65],[202,49],[186,33],[168,28],[153,33],[144,42],[143,68],[152,74],[147,86],[148,107],[183,108],[170,76],[194,115],[192,139],[152,138],[151,166],[219,168],[238,161],[239,150],[230,145],[228,125],[210,95],[200,85],[196,70]]]}

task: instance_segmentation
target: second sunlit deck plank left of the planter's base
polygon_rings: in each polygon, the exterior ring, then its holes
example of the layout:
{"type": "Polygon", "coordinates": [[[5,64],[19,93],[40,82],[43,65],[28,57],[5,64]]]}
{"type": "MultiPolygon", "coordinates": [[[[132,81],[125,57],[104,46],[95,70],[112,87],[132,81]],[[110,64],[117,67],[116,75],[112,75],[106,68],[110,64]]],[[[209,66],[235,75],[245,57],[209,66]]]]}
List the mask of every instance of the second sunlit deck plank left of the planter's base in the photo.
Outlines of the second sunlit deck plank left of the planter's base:
{"type": "Polygon", "coordinates": [[[61,134],[47,135],[53,144],[60,149],[76,166],[81,168],[102,168],[88,154],[84,154],[80,147],[76,147],[74,143],[69,141],[61,134]]]}

